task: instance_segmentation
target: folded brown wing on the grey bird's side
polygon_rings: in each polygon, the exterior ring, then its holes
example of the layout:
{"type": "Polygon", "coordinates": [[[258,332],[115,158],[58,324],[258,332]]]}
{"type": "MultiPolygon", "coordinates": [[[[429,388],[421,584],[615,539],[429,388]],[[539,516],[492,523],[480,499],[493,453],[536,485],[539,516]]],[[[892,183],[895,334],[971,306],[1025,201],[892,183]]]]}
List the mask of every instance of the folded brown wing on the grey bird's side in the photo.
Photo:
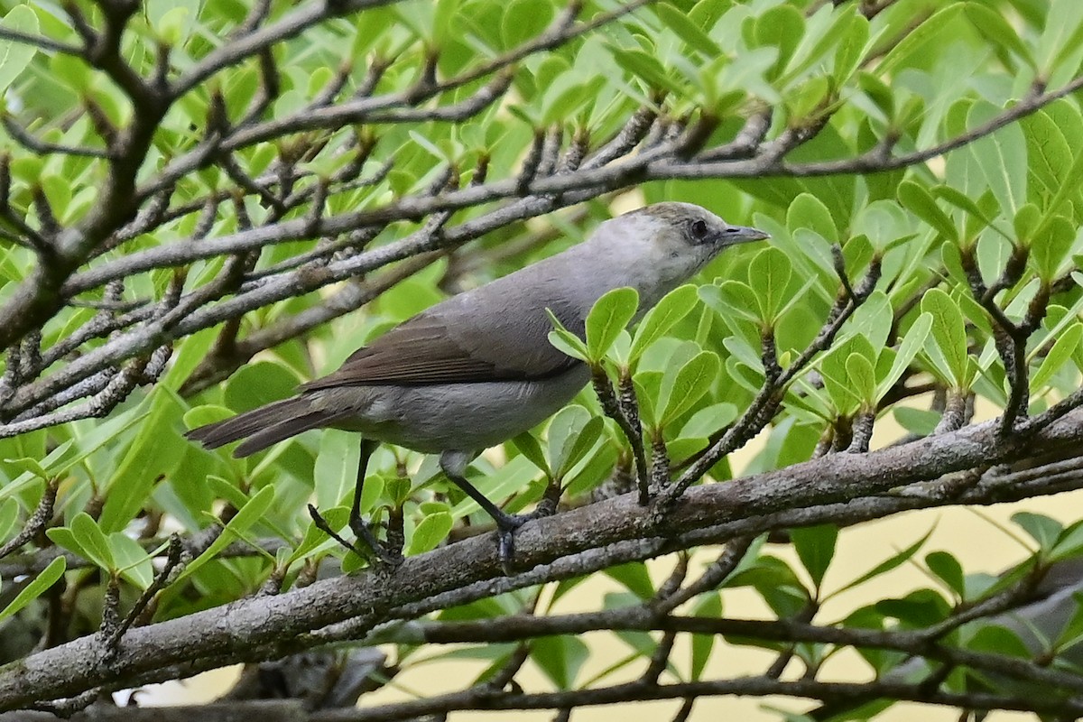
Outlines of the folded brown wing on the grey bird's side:
{"type": "Polygon", "coordinates": [[[580,362],[549,343],[551,327],[545,309],[553,305],[565,326],[582,332],[582,321],[559,303],[533,304],[496,317],[490,313],[479,319],[469,302],[451,299],[396,326],[355,351],[337,371],[301,388],[527,381],[557,376],[580,362]]]}

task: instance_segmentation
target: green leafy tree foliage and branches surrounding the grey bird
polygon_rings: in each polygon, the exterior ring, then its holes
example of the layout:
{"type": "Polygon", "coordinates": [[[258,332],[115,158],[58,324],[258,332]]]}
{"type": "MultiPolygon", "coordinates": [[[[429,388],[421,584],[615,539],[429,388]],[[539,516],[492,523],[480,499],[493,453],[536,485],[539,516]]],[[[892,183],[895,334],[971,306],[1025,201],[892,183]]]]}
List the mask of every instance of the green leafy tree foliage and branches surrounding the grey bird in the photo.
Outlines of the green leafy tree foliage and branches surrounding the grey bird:
{"type": "Polygon", "coordinates": [[[961,565],[927,525],[871,568],[835,556],[859,543],[838,526],[1079,486],[1083,5],[0,5],[0,707],[70,712],[246,661],[263,674],[230,711],[285,696],[313,720],[361,719],[358,696],[365,719],[658,697],[680,717],[725,694],[821,718],[1079,711],[1070,594],[1064,629],[975,623],[1074,581],[1071,516],[1000,523],[1031,552],[1001,580],[970,573],[1016,560],[961,565]],[[364,507],[408,560],[340,577],[360,563],[304,504],[344,523],[351,435],[240,461],[181,436],[662,199],[771,248],[726,254],[630,333],[589,324],[597,389],[475,464],[510,510],[564,487],[512,577],[431,459],[374,460],[364,507]],[[755,437],[744,480],[713,483],[755,437]],[[621,496],[652,480],[654,504],[621,496]],[[925,588],[886,582],[904,564],[925,588]],[[561,614],[597,574],[619,591],[561,614]],[[876,603],[833,606],[848,586],[876,603]],[[759,623],[731,612],[749,594],[759,623]],[[626,649],[591,660],[604,674],[583,671],[588,630],[626,649]],[[733,645],[761,667],[719,667],[733,645]],[[875,683],[832,677],[848,649],[875,683]],[[924,682],[890,671],[915,653],[924,682]],[[479,679],[366,699],[443,654],[479,679]]]}

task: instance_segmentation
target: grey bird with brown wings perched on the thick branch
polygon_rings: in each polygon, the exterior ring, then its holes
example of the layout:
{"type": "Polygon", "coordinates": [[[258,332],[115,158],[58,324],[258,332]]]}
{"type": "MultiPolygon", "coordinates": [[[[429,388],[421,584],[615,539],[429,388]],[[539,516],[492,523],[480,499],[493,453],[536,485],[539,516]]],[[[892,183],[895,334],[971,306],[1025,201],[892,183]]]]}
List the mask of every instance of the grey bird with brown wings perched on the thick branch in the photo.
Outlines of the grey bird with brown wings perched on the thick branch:
{"type": "Polygon", "coordinates": [[[582,337],[587,313],[606,291],[636,289],[642,313],[723,249],[764,238],[691,204],[625,213],[578,246],[409,318],[337,371],[301,385],[297,396],[187,436],[208,448],[244,439],[233,454],[245,457],[310,429],[360,432],[350,528],[377,554],[380,544],[360,510],[369,456],[379,442],[439,454],[448,478],[493,516],[507,565],[512,533],[525,517],[501,511],[465,472],[482,450],[537,425],[587,384],[587,365],[549,343],[546,310],[582,337]]]}

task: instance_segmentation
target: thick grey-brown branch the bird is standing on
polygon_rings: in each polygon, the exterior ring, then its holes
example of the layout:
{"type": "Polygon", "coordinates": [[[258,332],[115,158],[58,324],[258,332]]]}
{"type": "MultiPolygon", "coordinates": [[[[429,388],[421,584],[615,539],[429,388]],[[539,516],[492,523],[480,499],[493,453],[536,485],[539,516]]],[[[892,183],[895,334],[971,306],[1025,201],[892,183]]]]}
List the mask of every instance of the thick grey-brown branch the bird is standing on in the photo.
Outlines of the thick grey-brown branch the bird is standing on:
{"type": "MultiPolygon", "coordinates": [[[[1023,458],[1026,452],[1020,448],[1052,448],[1081,439],[1083,419],[1074,413],[1026,444],[1005,441],[996,423],[987,422],[870,454],[828,455],[728,484],[693,487],[677,500],[664,527],[656,525],[650,509],[639,507],[628,496],[618,497],[529,523],[517,534],[516,561],[524,569],[549,564],[559,568],[562,559],[613,544],[628,544],[634,559],[644,559],[758,534],[772,528],[772,522],[793,525],[795,520],[786,514],[805,508],[820,507],[821,512],[825,504],[845,508],[851,500],[884,495],[915,482],[1023,458]]],[[[1078,480],[1079,473],[1073,477],[1078,480]]],[[[970,485],[953,501],[974,502],[979,494],[1000,500],[1034,491],[1018,483],[999,487],[995,482],[991,480],[991,488],[970,485]]],[[[1045,477],[1040,481],[1047,488],[1051,483],[1045,477]]],[[[921,496],[900,498],[900,508],[915,498],[921,496]]],[[[822,520],[805,523],[817,521],[822,520]]],[[[609,556],[598,559],[605,565],[614,563],[609,556]]],[[[584,573],[582,566],[569,568],[569,573],[573,570],[584,573]]],[[[513,588],[557,578],[551,570],[543,569],[543,574],[540,579],[526,573],[501,582],[503,567],[492,539],[487,535],[472,538],[409,557],[391,577],[367,574],[318,581],[297,591],[243,600],[224,609],[129,630],[123,651],[108,665],[101,660],[96,638],[36,653],[0,670],[0,709],[68,697],[103,685],[130,686],[169,679],[178,672],[178,665],[191,673],[275,649],[295,651],[305,646],[305,639],[310,645],[327,641],[318,634],[308,636],[311,631],[357,615],[357,621],[347,627],[353,636],[364,635],[382,619],[401,616],[395,609],[408,608],[409,616],[415,616],[499,593],[504,585],[513,588]],[[430,606],[433,604],[438,606],[430,606]]]]}

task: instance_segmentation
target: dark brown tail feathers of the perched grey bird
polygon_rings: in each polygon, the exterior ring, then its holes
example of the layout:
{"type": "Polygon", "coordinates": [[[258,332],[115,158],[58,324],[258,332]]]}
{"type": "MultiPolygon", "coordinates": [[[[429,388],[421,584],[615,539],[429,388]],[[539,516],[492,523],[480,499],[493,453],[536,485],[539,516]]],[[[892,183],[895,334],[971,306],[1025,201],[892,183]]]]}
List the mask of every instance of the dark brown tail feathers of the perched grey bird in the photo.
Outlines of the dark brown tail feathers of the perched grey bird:
{"type": "Polygon", "coordinates": [[[326,426],[334,419],[335,416],[327,411],[314,411],[308,398],[297,396],[193,429],[184,435],[209,449],[243,438],[244,443],[233,450],[233,456],[240,458],[302,431],[326,426]]]}

